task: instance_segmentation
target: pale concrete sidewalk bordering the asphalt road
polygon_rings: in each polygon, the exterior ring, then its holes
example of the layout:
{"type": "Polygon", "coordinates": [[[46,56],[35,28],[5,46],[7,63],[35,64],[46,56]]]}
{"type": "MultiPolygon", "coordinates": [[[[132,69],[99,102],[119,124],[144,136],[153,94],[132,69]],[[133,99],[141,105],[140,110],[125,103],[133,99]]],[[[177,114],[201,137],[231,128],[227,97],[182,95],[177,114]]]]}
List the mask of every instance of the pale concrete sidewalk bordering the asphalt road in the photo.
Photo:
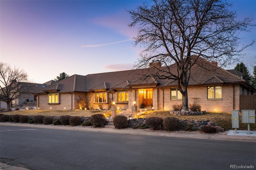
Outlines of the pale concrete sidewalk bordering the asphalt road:
{"type": "MultiPolygon", "coordinates": [[[[35,124],[21,124],[21,123],[0,123],[0,126],[18,126],[30,128],[50,128],[59,130],[77,130],[87,132],[102,132],[102,133],[119,133],[119,134],[135,134],[135,135],[148,135],[148,136],[165,136],[176,138],[194,138],[194,139],[208,139],[208,140],[229,140],[229,141],[242,141],[242,142],[256,142],[256,131],[250,131],[252,134],[246,134],[245,130],[230,130],[228,134],[199,134],[199,133],[182,133],[182,132],[155,132],[146,130],[134,129],[113,129],[113,128],[92,128],[92,127],[68,127],[68,126],[54,126],[54,125],[35,125],[35,124]]],[[[1,131],[1,129],[0,129],[1,131]]],[[[6,163],[0,162],[1,170],[28,170],[23,167],[11,166],[6,163]]]]}

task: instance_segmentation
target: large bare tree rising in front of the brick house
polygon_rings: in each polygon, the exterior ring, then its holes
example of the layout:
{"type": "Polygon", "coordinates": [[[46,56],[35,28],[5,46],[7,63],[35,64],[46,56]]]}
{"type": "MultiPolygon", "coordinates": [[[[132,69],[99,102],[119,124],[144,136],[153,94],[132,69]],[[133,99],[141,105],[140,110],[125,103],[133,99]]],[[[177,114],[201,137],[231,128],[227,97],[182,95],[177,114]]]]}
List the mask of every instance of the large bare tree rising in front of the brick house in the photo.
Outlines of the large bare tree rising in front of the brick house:
{"type": "Polygon", "coordinates": [[[156,72],[147,76],[177,80],[182,107],[188,110],[190,69],[198,57],[229,65],[239,61],[245,55],[242,51],[255,42],[238,48],[239,33],[255,25],[252,18],[237,20],[230,6],[222,0],[153,0],[151,6],[144,3],[128,11],[129,26],[139,26],[134,45],[145,47],[134,67],[145,68],[153,61],[166,67],[176,64],[177,73],[155,67],[156,72]]]}

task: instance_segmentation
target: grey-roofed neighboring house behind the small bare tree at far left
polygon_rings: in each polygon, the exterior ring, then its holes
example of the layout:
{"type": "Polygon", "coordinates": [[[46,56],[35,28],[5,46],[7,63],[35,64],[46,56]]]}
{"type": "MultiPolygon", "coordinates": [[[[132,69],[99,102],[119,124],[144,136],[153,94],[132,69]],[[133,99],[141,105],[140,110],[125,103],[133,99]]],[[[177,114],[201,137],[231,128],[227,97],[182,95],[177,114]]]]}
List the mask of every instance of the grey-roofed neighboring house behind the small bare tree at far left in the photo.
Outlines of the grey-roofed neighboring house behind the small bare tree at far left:
{"type": "MultiPolygon", "coordinates": [[[[55,81],[53,80],[43,84],[20,82],[19,83],[21,86],[20,90],[21,91],[24,90],[25,93],[20,95],[17,99],[12,100],[11,107],[22,106],[24,103],[36,101],[36,96],[32,93],[34,91],[38,91],[39,89],[47,87],[48,85],[51,85],[53,83],[55,83],[55,81]]],[[[6,102],[1,101],[0,107],[6,109],[7,108],[6,102]]]]}

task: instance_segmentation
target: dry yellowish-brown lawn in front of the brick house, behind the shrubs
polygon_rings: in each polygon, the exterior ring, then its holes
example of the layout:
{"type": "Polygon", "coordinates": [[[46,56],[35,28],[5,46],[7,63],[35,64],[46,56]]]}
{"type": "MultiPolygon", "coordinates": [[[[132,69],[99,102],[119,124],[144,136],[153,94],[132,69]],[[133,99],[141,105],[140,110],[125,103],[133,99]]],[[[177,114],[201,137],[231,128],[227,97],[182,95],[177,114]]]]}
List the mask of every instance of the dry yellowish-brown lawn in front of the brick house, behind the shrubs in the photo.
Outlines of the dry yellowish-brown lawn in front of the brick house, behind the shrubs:
{"type": "MultiPolygon", "coordinates": [[[[111,116],[110,110],[22,110],[22,111],[10,111],[4,113],[5,115],[44,115],[44,116],[84,116],[89,117],[94,114],[105,114],[105,117],[111,116]]],[[[178,116],[170,115],[169,111],[147,111],[139,116],[140,118],[148,117],[161,117],[162,119],[166,117],[177,117],[182,120],[200,120],[200,121],[212,121],[219,126],[226,129],[232,128],[232,114],[231,113],[206,113],[205,115],[197,116],[178,116]]],[[[239,128],[238,130],[248,130],[247,124],[242,123],[242,115],[239,115],[239,128]]],[[[256,130],[256,124],[250,124],[250,130],[256,130]]]]}

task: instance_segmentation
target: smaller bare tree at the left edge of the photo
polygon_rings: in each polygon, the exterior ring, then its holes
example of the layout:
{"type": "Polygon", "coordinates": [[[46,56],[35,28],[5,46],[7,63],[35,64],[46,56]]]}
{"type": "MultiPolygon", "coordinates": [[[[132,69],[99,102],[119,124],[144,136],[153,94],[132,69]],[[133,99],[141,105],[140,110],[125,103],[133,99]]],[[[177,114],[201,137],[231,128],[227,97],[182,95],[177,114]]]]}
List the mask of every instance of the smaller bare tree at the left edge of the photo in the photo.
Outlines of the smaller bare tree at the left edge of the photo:
{"type": "Polygon", "coordinates": [[[27,93],[29,87],[24,87],[22,82],[28,80],[28,75],[23,69],[0,62],[0,100],[7,103],[7,109],[10,109],[12,100],[27,93]]]}

